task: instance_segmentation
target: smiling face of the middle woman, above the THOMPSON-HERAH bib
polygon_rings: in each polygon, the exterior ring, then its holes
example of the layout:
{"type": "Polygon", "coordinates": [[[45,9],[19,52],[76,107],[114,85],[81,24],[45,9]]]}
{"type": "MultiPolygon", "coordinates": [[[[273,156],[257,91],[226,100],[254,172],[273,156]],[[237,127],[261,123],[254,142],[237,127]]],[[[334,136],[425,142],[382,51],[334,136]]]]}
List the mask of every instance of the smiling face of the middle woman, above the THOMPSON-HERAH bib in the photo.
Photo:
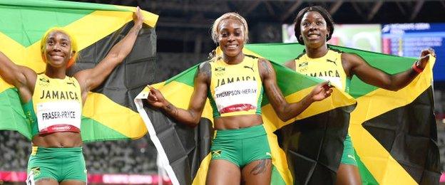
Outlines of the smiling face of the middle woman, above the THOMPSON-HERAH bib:
{"type": "Polygon", "coordinates": [[[240,21],[227,18],[218,26],[218,43],[225,56],[235,57],[242,55],[245,33],[240,21]]]}

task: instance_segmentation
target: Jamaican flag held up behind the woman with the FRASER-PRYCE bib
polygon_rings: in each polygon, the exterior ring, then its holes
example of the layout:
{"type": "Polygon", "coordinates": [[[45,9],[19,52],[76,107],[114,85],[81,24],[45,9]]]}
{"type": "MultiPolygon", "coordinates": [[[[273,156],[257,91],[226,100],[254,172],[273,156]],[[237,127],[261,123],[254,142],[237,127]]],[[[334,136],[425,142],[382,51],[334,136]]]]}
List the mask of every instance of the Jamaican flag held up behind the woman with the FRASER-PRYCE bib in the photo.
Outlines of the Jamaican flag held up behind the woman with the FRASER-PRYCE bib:
{"type": "MultiPolygon", "coordinates": [[[[80,51],[69,69],[93,68],[133,26],[134,7],[68,1],[0,1],[0,51],[18,65],[42,73],[40,39],[48,28],[69,31],[80,51]]],[[[146,83],[153,82],[155,23],[158,16],[143,11],[145,24],[133,51],[100,87],[88,94],[83,106],[81,134],[85,142],[136,139],[147,130],[133,98],[146,83]]],[[[0,129],[16,130],[31,139],[16,88],[0,79],[0,129]]]]}

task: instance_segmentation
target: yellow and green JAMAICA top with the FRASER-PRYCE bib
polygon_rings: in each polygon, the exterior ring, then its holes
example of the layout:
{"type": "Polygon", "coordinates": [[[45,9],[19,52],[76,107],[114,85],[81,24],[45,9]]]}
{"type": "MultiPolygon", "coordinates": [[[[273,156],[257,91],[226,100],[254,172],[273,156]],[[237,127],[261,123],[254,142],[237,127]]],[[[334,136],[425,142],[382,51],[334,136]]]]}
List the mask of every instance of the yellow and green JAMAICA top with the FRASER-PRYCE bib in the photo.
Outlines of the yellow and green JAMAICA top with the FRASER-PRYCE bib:
{"type": "Polygon", "coordinates": [[[81,87],[76,78],[49,78],[39,74],[34,94],[22,105],[31,122],[32,135],[52,132],[80,132],[81,87]]]}

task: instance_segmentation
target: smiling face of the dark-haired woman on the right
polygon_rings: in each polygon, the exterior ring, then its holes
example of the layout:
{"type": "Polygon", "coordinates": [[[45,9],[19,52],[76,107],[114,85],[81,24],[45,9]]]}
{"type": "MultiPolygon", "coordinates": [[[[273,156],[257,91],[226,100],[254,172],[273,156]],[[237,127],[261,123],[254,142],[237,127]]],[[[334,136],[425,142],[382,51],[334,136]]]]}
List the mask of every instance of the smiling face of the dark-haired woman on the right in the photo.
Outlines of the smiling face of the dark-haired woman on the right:
{"type": "Polygon", "coordinates": [[[319,48],[327,42],[329,30],[323,16],[317,11],[308,11],[300,23],[300,33],[305,45],[310,48],[319,48]]]}

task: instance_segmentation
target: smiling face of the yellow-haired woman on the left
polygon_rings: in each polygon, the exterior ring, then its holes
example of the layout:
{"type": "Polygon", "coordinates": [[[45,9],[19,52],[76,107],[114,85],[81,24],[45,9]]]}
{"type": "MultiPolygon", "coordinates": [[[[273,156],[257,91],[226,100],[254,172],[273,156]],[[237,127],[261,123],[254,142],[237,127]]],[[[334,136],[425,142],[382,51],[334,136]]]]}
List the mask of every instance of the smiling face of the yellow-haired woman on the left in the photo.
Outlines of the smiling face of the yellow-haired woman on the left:
{"type": "Polygon", "coordinates": [[[44,55],[46,63],[56,68],[66,68],[73,57],[70,38],[61,31],[52,31],[46,38],[44,55]]]}

